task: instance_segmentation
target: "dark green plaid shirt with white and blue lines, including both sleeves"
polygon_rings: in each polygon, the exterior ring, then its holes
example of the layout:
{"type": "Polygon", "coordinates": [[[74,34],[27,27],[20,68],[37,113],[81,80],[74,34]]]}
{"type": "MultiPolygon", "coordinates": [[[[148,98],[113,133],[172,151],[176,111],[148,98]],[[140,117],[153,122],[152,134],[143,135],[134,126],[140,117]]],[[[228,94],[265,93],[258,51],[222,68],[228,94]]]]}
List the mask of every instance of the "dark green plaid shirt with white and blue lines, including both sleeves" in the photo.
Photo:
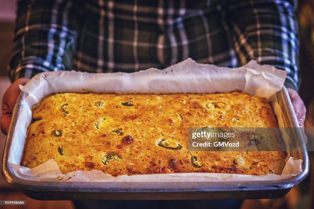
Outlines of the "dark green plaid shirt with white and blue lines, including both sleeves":
{"type": "Polygon", "coordinates": [[[20,0],[9,75],[256,59],[287,71],[285,85],[298,90],[298,46],[292,1],[20,0]]]}

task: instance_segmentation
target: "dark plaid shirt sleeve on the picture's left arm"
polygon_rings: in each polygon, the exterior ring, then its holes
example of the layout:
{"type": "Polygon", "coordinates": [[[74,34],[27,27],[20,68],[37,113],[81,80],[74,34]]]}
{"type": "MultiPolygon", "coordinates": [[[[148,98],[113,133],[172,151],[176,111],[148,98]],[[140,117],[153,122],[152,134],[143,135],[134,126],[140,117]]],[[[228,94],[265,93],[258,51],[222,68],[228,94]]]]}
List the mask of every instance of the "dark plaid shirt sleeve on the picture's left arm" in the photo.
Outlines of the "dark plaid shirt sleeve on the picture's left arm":
{"type": "Polygon", "coordinates": [[[9,61],[11,81],[70,70],[82,10],[79,1],[20,0],[9,61]]]}

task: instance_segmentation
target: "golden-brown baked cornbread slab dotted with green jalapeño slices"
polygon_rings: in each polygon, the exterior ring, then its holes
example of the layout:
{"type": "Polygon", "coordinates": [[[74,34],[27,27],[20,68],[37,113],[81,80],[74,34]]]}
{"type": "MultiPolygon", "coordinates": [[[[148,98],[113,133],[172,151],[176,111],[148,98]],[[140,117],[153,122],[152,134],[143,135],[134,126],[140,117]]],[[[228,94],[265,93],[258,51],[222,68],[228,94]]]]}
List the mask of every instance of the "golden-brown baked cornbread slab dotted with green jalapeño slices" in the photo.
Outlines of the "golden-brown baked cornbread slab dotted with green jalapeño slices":
{"type": "Polygon", "coordinates": [[[33,108],[21,165],[62,173],[281,174],[285,152],[188,151],[188,127],[278,127],[268,100],[225,94],[52,95],[33,108]],[[193,163],[196,157],[197,163],[193,163]]]}

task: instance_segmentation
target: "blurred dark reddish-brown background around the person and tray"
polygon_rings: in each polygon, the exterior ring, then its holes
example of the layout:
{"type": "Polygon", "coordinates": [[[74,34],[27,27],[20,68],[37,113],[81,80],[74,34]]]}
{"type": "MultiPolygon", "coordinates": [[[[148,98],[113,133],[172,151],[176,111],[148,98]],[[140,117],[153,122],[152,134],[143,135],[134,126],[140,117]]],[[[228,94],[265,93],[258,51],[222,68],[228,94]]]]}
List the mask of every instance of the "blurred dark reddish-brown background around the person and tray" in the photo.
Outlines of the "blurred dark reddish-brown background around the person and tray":
{"type": "MultiPolygon", "coordinates": [[[[14,31],[15,1],[0,0],[0,97],[10,85],[7,65],[11,55],[14,31]]],[[[307,108],[313,108],[311,101],[314,98],[314,1],[302,0],[298,6],[300,56],[299,66],[302,77],[300,96],[307,108]]],[[[314,109],[314,108],[313,108],[314,109]]],[[[0,163],[2,165],[3,147],[6,136],[0,133],[0,163]]],[[[313,154],[311,159],[310,175],[284,197],[279,199],[246,200],[242,206],[246,208],[295,209],[313,208],[314,167],[313,154]],[[311,181],[313,179],[313,181],[311,181]]],[[[37,201],[25,196],[18,188],[9,185],[0,176],[0,200],[27,200],[26,206],[3,206],[1,208],[55,208],[58,204],[62,208],[73,208],[71,201],[37,201]]]]}

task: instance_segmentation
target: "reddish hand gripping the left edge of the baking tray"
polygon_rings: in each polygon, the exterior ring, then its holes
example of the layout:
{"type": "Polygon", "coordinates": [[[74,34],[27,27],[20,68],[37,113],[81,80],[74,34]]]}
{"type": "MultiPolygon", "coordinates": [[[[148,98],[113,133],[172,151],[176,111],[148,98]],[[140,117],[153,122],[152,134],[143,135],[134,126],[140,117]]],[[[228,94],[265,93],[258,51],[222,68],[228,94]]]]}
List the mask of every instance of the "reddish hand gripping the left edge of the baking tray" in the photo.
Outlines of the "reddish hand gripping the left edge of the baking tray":
{"type": "Polygon", "coordinates": [[[7,91],[3,94],[2,97],[2,115],[1,115],[1,131],[4,134],[8,134],[9,126],[11,122],[12,112],[16,100],[19,96],[19,84],[25,85],[30,79],[28,78],[19,78],[14,81],[11,86],[8,87],[7,91]]]}

